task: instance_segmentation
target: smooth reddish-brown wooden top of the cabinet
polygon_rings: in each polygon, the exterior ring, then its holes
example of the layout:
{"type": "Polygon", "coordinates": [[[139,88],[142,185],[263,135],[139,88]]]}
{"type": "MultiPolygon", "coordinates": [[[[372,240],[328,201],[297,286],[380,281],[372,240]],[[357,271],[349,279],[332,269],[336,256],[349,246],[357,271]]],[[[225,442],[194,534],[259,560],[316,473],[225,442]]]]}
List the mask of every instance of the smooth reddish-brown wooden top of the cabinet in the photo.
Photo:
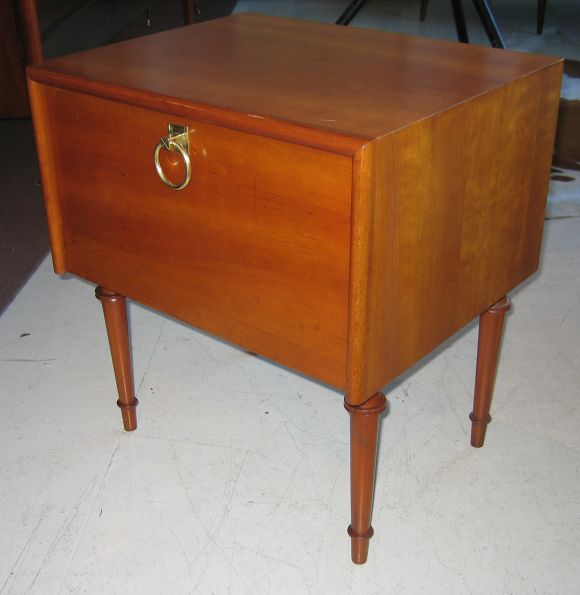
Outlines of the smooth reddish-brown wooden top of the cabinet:
{"type": "MultiPolygon", "coordinates": [[[[241,14],[29,68],[33,80],[140,105],[237,114],[373,139],[545,68],[557,58],[241,14]]],[[[206,113],[207,112],[207,113],[206,113]]]]}

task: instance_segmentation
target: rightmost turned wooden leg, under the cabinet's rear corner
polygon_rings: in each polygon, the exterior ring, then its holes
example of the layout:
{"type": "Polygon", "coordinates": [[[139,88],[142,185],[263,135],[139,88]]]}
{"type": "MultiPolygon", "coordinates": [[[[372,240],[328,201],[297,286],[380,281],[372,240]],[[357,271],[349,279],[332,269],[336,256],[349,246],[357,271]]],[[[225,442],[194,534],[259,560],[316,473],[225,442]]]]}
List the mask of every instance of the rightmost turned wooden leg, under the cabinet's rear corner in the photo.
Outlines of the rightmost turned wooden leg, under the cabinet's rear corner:
{"type": "Polygon", "coordinates": [[[471,420],[471,446],[480,448],[485,440],[485,430],[491,421],[489,410],[499,356],[499,344],[506,313],[511,303],[507,297],[494,304],[479,317],[479,341],[477,344],[477,368],[475,372],[475,396],[471,420]]]}

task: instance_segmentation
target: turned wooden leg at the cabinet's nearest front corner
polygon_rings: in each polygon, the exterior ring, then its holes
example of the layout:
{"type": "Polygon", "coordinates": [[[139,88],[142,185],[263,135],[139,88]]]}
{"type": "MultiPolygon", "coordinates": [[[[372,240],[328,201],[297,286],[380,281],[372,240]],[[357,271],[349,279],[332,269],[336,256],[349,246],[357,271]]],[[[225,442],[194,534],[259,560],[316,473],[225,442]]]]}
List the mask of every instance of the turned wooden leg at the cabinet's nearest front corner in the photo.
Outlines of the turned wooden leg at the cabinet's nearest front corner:
{"type": "Polygon", "coordinates": [[[351,557],[355,564],[364,564],[373,536],[371,513],[377,459],[377,435],[380,414],[387,399],[376,393],[362,405],[350,405],[348,395],[344,406],[350,413],[350,507],[351,557]]]}

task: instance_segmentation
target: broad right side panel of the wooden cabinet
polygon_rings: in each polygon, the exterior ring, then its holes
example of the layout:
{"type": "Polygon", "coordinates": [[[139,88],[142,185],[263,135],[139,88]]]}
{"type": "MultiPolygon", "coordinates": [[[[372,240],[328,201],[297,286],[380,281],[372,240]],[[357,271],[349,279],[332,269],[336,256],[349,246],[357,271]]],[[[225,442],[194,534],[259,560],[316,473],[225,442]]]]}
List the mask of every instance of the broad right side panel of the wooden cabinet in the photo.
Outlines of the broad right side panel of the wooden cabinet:
{"type": "Polygon", "coordinates": [[[360,153],[351,279],[368,290],[356,306],[351,286],[351,402],[537,270],[560,79],[556,64],[360,153]]]}

